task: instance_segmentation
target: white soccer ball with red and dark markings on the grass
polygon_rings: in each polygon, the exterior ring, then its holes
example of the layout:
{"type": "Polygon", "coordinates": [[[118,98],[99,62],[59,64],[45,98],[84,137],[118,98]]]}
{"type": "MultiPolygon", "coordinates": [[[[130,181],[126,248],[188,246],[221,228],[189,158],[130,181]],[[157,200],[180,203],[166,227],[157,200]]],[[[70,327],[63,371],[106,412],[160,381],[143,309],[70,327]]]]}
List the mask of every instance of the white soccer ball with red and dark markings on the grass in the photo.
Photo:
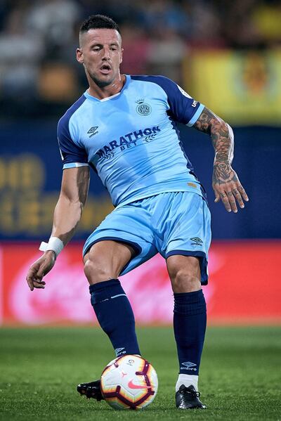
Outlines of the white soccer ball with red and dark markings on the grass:
{"type": "Polygon", "coordinates": [[[155,399],[157,374],[152,365],[140,356],[119,356],[103,370],[100,389],[112,408],[143,409],[155,399]]]}

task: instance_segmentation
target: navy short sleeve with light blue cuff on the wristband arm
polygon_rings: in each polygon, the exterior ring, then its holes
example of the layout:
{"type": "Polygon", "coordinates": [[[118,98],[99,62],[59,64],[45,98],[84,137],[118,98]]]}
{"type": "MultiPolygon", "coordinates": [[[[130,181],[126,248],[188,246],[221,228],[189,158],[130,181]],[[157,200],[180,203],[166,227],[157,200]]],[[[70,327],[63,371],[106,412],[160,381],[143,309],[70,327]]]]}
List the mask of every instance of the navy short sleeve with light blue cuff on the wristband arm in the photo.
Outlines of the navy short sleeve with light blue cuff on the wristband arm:
{"type": "Polygon", "coordinates": [[[81,148],[70,134],[70,118],[65,114],[58,122],[58,145],[63,160],[63,169],[88,164],[86,150],[81,148]]]}

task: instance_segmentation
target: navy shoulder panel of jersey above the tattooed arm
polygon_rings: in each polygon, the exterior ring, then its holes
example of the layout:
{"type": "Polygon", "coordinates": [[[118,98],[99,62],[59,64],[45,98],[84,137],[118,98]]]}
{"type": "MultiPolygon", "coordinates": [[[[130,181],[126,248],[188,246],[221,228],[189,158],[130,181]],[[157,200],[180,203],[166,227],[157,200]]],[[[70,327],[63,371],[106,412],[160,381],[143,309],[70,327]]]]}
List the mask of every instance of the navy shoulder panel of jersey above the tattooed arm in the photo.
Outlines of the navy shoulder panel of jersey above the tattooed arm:
{"type": "Polygon", "coordinates": [[[169,115],[177,122],[188,124],[200,103],[191,98],[180,86],[164,76],[131,76],[132,80],[151,82],[161,86],[168,97],[169,115]]]}

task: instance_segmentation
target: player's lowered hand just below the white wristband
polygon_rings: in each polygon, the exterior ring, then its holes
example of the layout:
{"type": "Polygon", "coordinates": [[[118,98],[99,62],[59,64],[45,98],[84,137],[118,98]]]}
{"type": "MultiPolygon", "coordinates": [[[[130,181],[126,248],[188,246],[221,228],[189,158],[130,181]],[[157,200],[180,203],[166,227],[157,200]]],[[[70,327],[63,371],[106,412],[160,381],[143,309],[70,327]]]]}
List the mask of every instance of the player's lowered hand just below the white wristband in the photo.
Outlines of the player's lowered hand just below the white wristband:
{"type": "Polygon", "coordinates": [[[48,250],[40,257],[37,261],[34,261],[34,264],[30,266],[29,271],[27,272],[27,283],[30,287],[30,290],[33,291],[34,288],[44,288],[46,283],[43,280],[43,277],[51,271],[53,265],[55,264],[55,252],[48,250]]]}

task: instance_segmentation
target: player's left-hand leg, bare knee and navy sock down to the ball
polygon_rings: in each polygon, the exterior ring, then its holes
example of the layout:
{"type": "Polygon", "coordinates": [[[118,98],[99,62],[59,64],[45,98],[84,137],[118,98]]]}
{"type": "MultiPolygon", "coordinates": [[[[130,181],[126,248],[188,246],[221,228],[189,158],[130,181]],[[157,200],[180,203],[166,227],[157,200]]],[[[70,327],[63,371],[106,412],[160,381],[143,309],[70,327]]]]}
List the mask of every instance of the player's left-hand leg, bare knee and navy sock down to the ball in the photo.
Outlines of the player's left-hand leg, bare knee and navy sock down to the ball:
{"type": "Polygon", "coordinates": [[[117,356],[141,354],[131,304],[117,279],[135,254],[130,245],[104,240],[96,242],[84,257],[91,304],[117,356]]]}

